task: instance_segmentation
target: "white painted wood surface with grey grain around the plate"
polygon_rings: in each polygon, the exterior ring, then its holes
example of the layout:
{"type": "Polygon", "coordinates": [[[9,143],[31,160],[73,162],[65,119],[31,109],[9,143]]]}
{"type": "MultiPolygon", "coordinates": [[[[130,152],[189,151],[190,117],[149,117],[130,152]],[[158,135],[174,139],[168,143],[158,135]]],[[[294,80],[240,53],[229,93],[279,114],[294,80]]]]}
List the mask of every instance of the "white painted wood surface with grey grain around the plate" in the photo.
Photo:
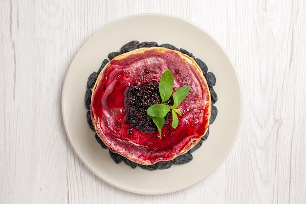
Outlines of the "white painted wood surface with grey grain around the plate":
{"type": "Polygon", "coordinates": [[[1,0],[1,204],[305,204],[305,0],[1,0]],[[67,139],[66,71],[96,31],[139,13],[165,13],[211,33],[243,92],[240,133],[203,181],[148,196],[95,176],[67,139]]]}

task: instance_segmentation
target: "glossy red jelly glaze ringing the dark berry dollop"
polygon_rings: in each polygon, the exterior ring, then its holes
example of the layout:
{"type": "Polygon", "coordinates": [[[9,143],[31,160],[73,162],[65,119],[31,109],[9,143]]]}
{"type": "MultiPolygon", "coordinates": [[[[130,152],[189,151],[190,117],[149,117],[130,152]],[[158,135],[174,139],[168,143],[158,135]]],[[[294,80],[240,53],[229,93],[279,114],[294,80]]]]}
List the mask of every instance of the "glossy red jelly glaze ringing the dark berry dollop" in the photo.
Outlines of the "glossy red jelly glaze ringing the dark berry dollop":
{"type": "Polygon", "coordinates": [[[100,73],[102,80],[92,95],[91,115],[97,134],[113,152],[144,165],[172,160],[195,145],[207,130],[210,116],[210,95],[203,76],[185,64],[174,51],[157,53],[154,49],[142,54],[109,62],[100,73]],[[144,84],[170,69],[175,78],[174,91],[184,85],[190,92],[178,106],[182,115],[174,129],[172,121],[162,128],[161,138],[141,133],[125,121],[125,93],[132,84],[144,84]],[[132,135],[131,135],[132,132],[132,135]]]}

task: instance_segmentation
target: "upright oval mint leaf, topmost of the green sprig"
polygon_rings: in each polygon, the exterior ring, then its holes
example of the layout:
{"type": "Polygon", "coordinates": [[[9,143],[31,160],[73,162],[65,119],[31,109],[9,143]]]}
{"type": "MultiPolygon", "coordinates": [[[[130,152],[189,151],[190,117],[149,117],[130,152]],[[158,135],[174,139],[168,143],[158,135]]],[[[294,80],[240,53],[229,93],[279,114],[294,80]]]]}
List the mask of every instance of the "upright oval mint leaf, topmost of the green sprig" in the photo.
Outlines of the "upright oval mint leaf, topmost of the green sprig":
{"type": "Polygon", "coordinates": [[[170,98],[173,91],[174,77],[172,72],[167,69],[160,78],[158,90],[162,103],[170,98]]]}

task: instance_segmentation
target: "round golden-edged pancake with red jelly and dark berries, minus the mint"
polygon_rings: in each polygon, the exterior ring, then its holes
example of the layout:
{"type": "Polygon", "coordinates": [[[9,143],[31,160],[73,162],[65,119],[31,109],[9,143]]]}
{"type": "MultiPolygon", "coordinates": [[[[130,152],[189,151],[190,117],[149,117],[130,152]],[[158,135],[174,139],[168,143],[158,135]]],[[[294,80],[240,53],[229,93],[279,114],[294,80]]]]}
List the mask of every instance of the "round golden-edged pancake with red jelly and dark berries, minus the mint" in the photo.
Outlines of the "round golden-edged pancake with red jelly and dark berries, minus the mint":
{"type": "Polygon", "coordinates": [[[188,55],[164,47],[139,48],[113,58],[92,90],[90,116],[97,135],[111,152],[142,165],[188,152],[207,132],[210,115],[209,87],[200,67],[188,55]],[[185,85],[190,91],[177,107],[182,112],[178,126],[172,127],[168,113],[159,137],[146,109],[161,102],[158,83],[167,69],[174,74],[173,92],[185,85]]]}

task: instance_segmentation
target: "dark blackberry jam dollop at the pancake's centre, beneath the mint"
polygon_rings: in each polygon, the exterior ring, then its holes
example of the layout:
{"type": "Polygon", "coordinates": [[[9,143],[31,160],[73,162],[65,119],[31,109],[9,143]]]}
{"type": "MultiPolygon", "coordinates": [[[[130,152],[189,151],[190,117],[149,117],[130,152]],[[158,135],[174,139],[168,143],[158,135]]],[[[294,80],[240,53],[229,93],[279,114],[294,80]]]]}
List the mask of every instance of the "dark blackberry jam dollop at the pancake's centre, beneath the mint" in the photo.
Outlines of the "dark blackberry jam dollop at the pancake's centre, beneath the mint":
{"type": "MultiPolygon", "coordinates": [[[[152,117],[147,114],[147,109],[158,103],[161,103],[161,97],[156,80],[142,85],[131,85],[125,98],[126,122],[142,133],[156,132],[157,128],[152,117]]],[[[173,100],[169,99],[165,103],[173,105],[173,100]]],[[[168,124],[170,119],[171,114],[168,113],[165,117],[165,124],[168,124]]]]}

